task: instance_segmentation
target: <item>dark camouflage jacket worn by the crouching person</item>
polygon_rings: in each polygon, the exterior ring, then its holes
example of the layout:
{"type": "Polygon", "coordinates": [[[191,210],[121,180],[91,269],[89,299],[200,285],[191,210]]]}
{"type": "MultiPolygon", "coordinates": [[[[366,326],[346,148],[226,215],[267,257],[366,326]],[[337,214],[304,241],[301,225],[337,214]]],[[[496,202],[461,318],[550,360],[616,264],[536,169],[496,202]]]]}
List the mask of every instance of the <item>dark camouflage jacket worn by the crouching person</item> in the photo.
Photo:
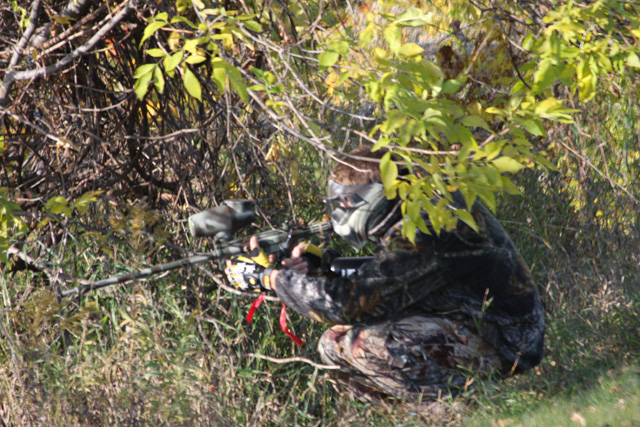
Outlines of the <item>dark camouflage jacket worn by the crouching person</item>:
{"type": "Polygon", "coordinates": [[[278,297],[328,323],[370,324],[409,313],[456,318],[518,370],[535,366],[545,325],[529,268],[493,215],[479,204],[471,213],[479,232],[459,221],[439,236],[418,231],[415,245],[402,237],[397,222],[374,259],[347,278],[283,270],[278,297]]]}

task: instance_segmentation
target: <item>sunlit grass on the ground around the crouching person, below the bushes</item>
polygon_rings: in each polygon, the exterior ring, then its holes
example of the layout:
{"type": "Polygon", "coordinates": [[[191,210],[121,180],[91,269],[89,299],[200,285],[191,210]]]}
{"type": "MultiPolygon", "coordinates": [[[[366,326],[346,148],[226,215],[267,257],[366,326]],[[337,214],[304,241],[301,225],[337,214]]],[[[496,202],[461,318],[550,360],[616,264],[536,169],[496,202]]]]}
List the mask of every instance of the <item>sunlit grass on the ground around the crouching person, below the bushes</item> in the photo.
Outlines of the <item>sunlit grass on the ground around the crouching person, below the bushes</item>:
{"type": "MultiPolygon", "coordinates": [[[[547,313],[534,370],[436,406],[371,405],[313,364],[323,325],[290,312],[298,348],[278,303],[249,325],[252,298],[195,267],[64,300],[23,271],[0,278],[0,425],[638,425],[639,115],[631,102],[600,105],[579,132],[554,131],[559,172],[522,173],[523,195],[500,203],[547,313]]],[[[186,240],[175,222],[130,212],[96,204],[66,224],[51,267],[99,279],[182,255],[165,245],[186,240]],[[153,227],[125,232],[136,215],[153,227]]]]}

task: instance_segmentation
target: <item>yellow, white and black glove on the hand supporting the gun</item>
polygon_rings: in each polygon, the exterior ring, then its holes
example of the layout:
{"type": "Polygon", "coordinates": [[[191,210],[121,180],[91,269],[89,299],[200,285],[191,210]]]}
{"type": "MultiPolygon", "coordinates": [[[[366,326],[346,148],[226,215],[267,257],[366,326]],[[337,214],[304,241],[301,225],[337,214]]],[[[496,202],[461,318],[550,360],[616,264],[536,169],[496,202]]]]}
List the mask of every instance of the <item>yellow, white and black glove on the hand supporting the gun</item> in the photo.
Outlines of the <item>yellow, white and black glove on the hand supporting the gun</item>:
{"type": "Polygon", "coordinates": [[[224,272],[231,285],[242,291],[264,292],[271,289],[271,263],[260,248],[252,249],[248,256],[231,258],[224,272]]]}

